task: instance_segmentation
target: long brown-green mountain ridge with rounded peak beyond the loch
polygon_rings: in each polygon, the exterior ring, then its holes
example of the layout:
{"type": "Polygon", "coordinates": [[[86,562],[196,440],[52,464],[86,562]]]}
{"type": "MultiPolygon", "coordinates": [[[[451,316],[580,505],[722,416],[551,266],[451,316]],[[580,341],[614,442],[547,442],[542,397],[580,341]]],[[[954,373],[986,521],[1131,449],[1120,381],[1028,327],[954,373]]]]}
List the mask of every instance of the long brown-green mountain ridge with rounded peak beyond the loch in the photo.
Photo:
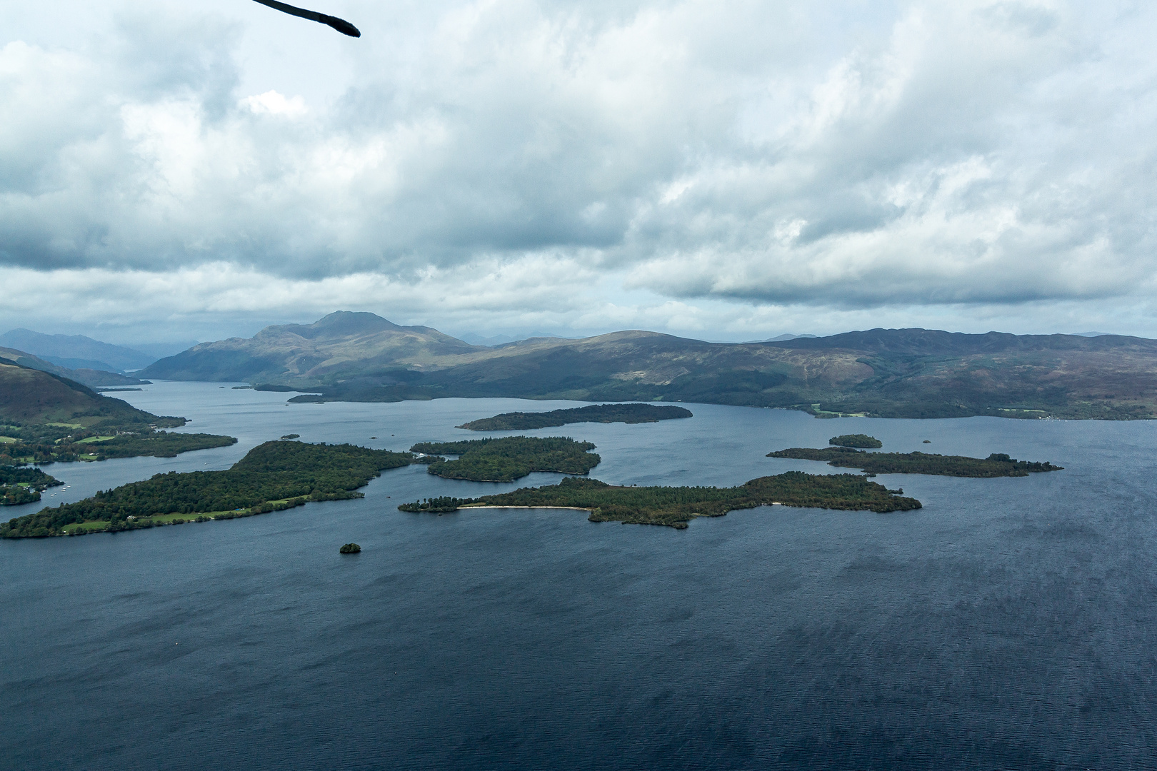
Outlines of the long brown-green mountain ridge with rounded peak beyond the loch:
{"type": "Polygon", "coordinates": [[[643,331],[472,346],[339,311],[161,359],[141,377],[316,391],[293,401],[517,396],[699,401],[884,417],[1157,416],[1157,341],[868,329],[710,343],[643,331]]]}

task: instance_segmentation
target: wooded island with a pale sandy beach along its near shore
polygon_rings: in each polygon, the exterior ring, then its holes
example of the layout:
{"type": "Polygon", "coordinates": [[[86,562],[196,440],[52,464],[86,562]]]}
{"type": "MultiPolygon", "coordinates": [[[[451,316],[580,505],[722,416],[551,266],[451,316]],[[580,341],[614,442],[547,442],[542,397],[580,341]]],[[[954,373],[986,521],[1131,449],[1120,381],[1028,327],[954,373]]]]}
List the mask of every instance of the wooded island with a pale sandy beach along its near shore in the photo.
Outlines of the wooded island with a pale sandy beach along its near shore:
{"type": "Polygon", "coordinates": [[[920,509],[858,474],[816,475],[787,472],[761,476],[734,488],[614,487],[598,480],[566,479],[558,484],[523,488],[472,499],[433,498],[401,504],[400,511],[448,512],[479,506],[589,510],[592,522],[666,525],[684,528],[694,517],[722,517],[737,509],[771,504],[852,511],[907,511],[920,509]]]}

